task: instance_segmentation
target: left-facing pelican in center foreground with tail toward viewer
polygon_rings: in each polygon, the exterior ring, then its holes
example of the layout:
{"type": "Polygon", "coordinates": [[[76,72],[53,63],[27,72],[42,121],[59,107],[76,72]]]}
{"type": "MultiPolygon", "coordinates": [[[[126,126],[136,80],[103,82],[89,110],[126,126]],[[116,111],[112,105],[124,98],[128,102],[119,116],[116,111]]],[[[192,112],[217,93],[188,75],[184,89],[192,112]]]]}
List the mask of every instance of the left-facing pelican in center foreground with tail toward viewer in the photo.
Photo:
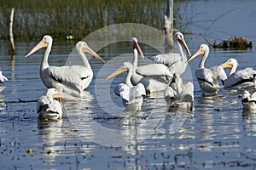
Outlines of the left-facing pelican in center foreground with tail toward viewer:
{"type": "Polygon", "coordinates": [[[131,75],[133,73],[133,65],[130,62],[125,62],[118,70],[113,71],[106,79],[117,76],[119,73],[128,71],[125,78],[125,83],[119,83],[114,88],[114,93],[121,96],[123,99],[123,105],[128,111],[140,111],[143,105],[143,95],[146,95],[146,90],[142,83],[138,83],[136,86],[131,84],[131,75]]]}

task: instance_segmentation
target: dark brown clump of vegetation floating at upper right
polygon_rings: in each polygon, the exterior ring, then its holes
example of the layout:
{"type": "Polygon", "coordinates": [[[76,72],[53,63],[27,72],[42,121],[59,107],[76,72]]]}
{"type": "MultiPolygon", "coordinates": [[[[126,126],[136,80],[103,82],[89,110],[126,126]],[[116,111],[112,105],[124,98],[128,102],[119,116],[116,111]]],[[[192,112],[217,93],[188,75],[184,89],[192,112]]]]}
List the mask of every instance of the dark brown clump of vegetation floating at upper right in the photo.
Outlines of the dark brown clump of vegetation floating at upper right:
{"type": "Polygon", "coordinates": [[[216,43],[210,42],[207,37],[204,37],[207,43],[212,46],[212,48],[235,48],[235,49],[244,49],[244,48],[253,48],[253,42],[248,42],[247,37],[237,37],[230,38],[229,40],[224,40],[223,42],[216,43]]]}

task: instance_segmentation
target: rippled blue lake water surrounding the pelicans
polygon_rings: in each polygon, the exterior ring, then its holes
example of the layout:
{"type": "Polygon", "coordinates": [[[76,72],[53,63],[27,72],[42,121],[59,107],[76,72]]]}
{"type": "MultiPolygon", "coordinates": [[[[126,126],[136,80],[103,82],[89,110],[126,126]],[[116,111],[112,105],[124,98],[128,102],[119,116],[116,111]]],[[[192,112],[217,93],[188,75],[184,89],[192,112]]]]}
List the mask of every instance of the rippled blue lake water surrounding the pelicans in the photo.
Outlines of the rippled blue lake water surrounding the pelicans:
{"type": "MultiPolygon", "coordinates": [[[[189,26],[195,34],[185,37],[192,53],[205,43],[200,34],[212,42],[233,35],[255,42],[253,0],[192,1],[186,5],[188,15],[195,15],[189,26]]],[[[84,91],[83,102],[64,101],[66,114],[61,121],[38,122],[35,101],[45,90],[38,72],[44,50],[24,59],[37,42],[16,42],[18,54],[11,59],[5,54],[9,42],[1,41],[0,67],[9,78],[0,95],[1,169],[255,168],[256,112],[242,111],[236,91],[223,89],[218,96],[201,96],[194,76],[200,57],[191,61],[192,73],[188,70],[184,77],[187,81],[191,77],[195,84],[194,111],[168,112],[161,93],[147,97],[143,111],[137,114],[123,111],[113,87],[124,81],[125,74],[110,81],[104,77],[131,60],[130,42],[117,42],[98,51],[106,65],[90,59],[95,78],[84,91]]],[[[50,65],[64,65],[74,44],[54,42],[50,65]]],[[[146,44],[142,48],[148,58],[158,54],[146,44]]],[[[212,49],[206,66],[232,57],[242,69],[256,64],[254,56],[255,48],[212,49]]],[[[140,65],[148,62],[139,60],[140,65]]]]}

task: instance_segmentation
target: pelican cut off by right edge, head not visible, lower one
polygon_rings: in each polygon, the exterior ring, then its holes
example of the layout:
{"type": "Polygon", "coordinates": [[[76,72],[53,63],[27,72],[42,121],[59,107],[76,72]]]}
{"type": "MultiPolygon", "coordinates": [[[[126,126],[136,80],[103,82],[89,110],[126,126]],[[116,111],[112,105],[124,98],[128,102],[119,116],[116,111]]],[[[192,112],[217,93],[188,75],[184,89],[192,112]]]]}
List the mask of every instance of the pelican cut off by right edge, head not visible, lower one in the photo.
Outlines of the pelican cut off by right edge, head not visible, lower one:
{"type": "Polygon", "coordinates": [[[247,90],[244,90],[241,104],[244,110],[256,110],[256,92],[250,94],[247,90]]]}

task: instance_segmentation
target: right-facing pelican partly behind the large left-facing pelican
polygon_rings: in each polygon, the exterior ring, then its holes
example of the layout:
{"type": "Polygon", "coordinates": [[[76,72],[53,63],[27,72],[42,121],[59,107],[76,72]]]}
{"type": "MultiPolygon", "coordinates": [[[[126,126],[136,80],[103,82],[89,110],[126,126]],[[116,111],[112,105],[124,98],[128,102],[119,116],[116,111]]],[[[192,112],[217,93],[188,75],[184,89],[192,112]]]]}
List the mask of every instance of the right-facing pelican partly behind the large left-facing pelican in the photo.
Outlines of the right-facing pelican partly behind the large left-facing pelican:
{"type": "Polygon", "coordinates": [[[77,42],[76,49],[79,53],[79,56],[83,60],[84,65],[72,65],[72,66],[63,66],[63,67],[67,67],[79,74],[80,78],[82,79],[82,89],[84,90],[90,85],[90,82],[93,77],[93,71],[91,70],[90,63],[84,53],[92,54],[93,56],[96,57],[96,59],[101,60],[102,63],[105,63],[105,61],[98,54],[96,54],[91,48],[89,48],[86,42],[77,42]]]}

